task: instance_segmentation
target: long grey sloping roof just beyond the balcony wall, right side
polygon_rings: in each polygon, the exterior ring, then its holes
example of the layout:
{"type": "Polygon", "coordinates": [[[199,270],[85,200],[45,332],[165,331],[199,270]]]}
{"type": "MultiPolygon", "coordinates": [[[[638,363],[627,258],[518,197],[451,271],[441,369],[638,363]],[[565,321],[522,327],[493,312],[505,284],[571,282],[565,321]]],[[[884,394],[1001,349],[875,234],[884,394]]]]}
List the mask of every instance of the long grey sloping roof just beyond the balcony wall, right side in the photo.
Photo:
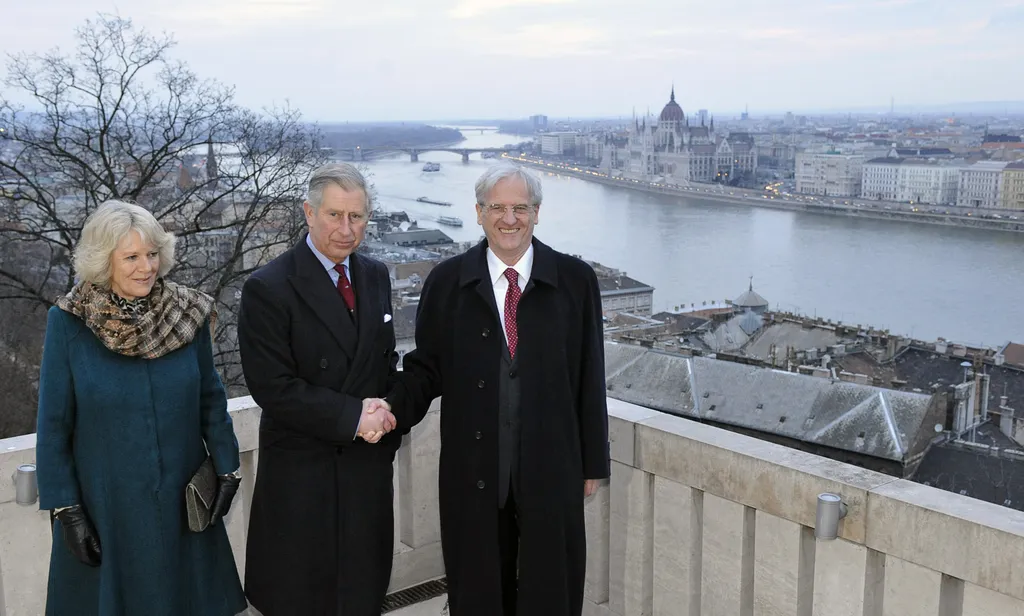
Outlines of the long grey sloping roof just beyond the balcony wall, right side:
{"type": "Polygon", "coordinates": [[[932,436],[929,395],[628,345],[605,354],[608,395],[632,404],[899,463],[932,436]]]}

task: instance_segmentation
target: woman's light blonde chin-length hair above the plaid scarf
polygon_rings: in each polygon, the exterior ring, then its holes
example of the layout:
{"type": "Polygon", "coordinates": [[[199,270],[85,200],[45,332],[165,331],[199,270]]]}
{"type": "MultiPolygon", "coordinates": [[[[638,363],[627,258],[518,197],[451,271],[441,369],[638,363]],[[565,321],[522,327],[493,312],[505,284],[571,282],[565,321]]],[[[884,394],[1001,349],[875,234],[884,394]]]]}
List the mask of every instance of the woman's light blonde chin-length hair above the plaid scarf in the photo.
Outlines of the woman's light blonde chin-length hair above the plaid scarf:
{"type": "Polygon", "coordinates": [[[174,240],[145,208],[121,201],[106,201],[85,220],[82,237],[75,247],[75,272],[96,287],[110,289],[114,251],[125,235],[137,231],[160,254],[158,277],[174,267],[174,240]]]}

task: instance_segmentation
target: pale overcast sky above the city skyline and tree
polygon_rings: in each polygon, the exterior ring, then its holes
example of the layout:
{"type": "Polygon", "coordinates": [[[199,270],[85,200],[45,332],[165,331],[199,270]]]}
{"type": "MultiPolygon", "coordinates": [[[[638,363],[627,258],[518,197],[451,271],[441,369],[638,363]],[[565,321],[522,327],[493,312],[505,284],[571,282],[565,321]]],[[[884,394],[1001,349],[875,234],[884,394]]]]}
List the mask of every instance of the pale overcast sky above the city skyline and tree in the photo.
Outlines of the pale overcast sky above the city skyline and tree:
{"type": "Polygon", "coordinates": [[[1024,100],[1024,0],[0,0],[0,49],[119,11],[317,121],[1024,100]]]}

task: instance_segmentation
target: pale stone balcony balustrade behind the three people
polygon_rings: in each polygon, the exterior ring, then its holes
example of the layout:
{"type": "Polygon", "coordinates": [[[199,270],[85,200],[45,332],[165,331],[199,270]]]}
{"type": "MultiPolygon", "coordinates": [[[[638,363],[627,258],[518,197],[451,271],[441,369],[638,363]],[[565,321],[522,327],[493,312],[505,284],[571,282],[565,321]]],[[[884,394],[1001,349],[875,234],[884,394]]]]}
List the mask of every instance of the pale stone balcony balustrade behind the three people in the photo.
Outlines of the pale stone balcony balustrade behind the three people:
{"type": "MultiPolygon", "coordinates": [[[[609,399],[612,478],[586,503],[588,616],[1024,616],[1024,514],[609,399]],[[841,494],[836,540],[816,497],[841,494]]],[[[231,400],[245,563],[259,408],[231,400]]],[[[438,409],[395,460],[391,590],[443,575],[438,409]]],[[[0,616],[43,613],[46,512],[14,502],[35,437],[0,440],[0,616]]],[[[438,602],[394,612],[437,614],[438,602]],[[429,606],[429,607],[428,607],[429,606]]]]}

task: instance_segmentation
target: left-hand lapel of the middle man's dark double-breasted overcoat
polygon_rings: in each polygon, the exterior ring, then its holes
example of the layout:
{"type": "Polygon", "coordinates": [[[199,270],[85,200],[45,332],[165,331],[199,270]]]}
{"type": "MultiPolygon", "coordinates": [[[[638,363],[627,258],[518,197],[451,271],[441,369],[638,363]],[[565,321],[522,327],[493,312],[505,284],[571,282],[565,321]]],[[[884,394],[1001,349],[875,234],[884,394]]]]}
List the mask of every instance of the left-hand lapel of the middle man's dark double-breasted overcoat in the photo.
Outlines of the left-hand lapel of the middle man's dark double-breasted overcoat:
{"type": "Polygon", "coordinates": [[[351,359],[355,355],[356,331],[352,319],[345,314],[344,300],[332,284],[331,275],[306,246],[305,238],[294,250],[295,274],[289,276],[289,281],[351,359]]]}

